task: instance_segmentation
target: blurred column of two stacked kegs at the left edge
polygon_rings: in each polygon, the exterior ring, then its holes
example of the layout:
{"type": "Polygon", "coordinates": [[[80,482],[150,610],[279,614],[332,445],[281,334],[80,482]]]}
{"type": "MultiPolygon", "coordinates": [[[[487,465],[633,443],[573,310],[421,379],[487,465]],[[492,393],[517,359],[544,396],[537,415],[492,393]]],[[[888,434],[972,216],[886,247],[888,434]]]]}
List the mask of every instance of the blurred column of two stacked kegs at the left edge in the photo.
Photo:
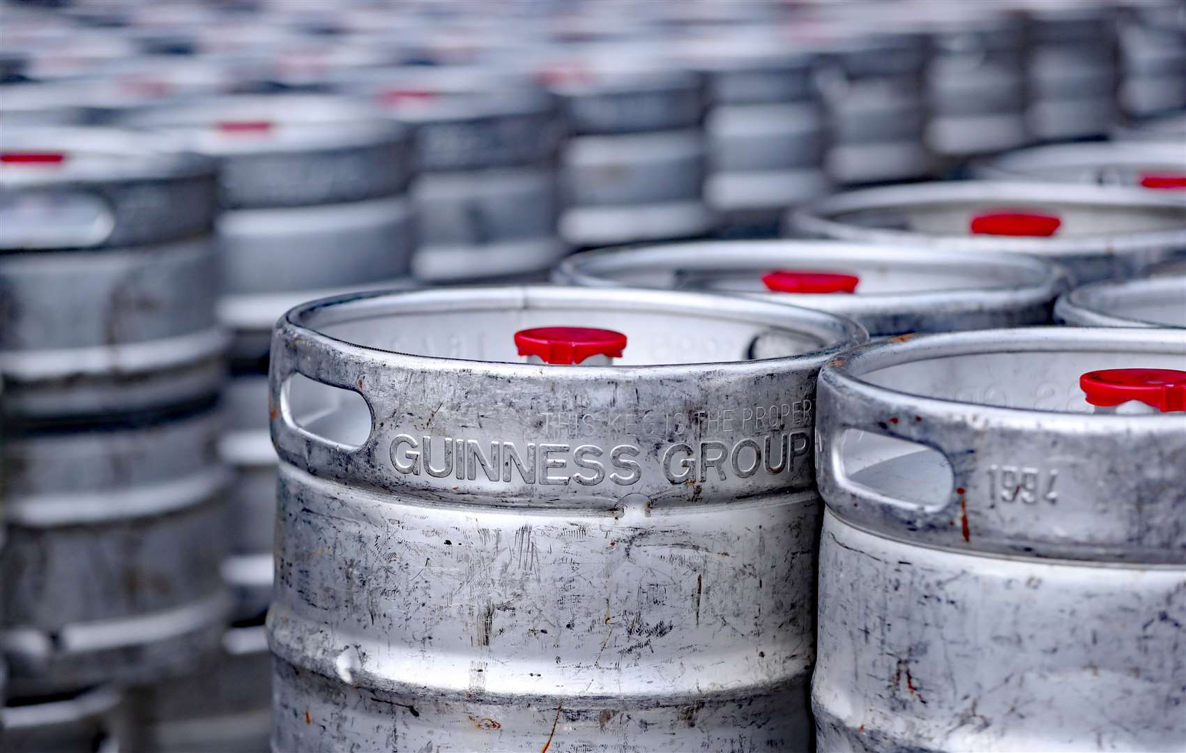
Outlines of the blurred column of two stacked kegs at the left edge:
{"type": "Polygon", "coordinates": [[[228,612],[215,172],[123,132],[2,148],[4,714],[50,745],[208,659],[228,612]]]}

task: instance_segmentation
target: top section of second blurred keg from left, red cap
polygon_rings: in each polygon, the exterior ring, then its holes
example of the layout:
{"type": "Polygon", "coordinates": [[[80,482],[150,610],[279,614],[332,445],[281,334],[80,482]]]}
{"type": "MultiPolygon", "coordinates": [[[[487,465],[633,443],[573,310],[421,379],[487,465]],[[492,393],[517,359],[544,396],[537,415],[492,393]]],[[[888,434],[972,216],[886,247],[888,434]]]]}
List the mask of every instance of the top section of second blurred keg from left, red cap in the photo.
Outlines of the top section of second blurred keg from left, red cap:
{"type": "Polygon", "coordinates": [[[404,127],[331,95],[228,95],[130,114],[218,160],[227,209],[278,209],[395,196],[412,179],[404,127]]]}

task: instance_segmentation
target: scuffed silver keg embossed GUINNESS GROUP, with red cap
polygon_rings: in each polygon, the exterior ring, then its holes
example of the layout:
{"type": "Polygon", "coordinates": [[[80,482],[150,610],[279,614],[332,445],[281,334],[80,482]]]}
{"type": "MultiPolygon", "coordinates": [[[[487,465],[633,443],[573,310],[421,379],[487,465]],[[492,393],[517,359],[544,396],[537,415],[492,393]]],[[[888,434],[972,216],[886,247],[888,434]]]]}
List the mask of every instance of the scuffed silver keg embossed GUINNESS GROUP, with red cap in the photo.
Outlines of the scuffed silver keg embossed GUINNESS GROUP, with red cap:
{"type": "Polygon", "coordinates": [[[815,374],[865,337],[663,291],[286,314],[273,748],[805,749],[815,374]]]}

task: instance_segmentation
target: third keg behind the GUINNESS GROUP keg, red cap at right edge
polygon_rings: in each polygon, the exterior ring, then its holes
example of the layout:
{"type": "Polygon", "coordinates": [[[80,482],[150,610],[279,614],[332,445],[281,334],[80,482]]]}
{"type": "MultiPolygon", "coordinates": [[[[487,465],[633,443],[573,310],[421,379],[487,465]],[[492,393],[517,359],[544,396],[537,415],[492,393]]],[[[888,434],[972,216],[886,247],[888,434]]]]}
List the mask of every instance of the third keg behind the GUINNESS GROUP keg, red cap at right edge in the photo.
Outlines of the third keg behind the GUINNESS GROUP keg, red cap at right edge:
{"type": "Polygon", "coordinates": [[[1186,148],[1173,143],[1060,143],[976,165],[978,178],[1186,189],[1186,148]]]}

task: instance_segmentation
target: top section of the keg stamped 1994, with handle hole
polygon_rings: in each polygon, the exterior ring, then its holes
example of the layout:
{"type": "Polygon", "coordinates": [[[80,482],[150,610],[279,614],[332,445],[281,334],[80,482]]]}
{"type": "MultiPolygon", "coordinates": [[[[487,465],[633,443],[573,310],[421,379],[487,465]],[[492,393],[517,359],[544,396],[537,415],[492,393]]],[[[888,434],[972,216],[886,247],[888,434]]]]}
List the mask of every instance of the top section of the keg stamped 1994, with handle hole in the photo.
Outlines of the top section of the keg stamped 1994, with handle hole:
{"type": "MultiPolygon", "coordinates": [[[[1186,562],[1181,383],[1158,396],[1171,413],[1101,411],[1080,379],[1112,369],[1181,372],[1186,332],[995,330],[843,353],[820,376],[821,493],[846,519],[926,545],[1186,562]]],[[[1143,401],[1165,387],[1135,389],[1143,401]]]]}

